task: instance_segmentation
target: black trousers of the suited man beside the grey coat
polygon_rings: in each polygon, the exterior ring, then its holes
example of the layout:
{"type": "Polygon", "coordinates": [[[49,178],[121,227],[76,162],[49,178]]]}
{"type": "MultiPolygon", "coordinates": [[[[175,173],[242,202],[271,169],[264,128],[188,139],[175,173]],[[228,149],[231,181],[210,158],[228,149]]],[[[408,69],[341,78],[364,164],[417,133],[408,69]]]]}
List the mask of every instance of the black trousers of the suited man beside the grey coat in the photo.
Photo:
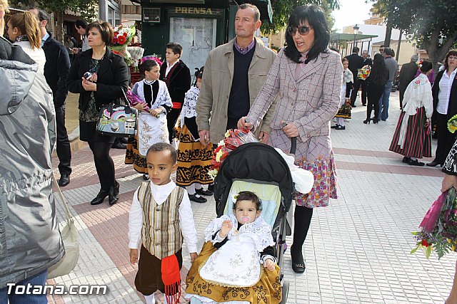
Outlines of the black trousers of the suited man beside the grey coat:
{"type": "Polygon", "coordinates": [[[56,150],[60,174],[71,174],[71,149],[65,127],[65,106],[56,108],[56,150]]]}

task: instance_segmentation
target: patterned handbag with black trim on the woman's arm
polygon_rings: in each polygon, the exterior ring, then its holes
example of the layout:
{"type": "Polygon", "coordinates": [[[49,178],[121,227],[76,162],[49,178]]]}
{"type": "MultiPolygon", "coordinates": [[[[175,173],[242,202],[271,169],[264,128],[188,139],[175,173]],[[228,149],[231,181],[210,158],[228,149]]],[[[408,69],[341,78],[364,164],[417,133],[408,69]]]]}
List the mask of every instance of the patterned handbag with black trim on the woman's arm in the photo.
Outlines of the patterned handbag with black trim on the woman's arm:
{"type": "MultiPolygon", "coordinates": [[[[125,92],[124,92],[125,97],[125,92]]],[[[126,105],[103,105],[99,112],[96,130],[102,135],[115,137],[135,136],[138,110],[126,105]]]]}

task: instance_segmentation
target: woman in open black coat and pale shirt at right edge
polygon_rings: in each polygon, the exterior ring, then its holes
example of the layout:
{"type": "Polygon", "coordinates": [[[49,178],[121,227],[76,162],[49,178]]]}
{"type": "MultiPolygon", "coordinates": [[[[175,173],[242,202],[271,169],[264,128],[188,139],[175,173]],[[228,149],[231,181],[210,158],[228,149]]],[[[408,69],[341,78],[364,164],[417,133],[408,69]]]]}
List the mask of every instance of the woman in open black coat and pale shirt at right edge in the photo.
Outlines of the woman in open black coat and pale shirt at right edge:
{"type": "Polygon", "coordinates": [[[448,51],[444,59],[444,70],[436,75],[431,88],[433,95],[433,119],[436,122],[436,145],[435,159],[427,164],[428,167],[443,165],[446,156],[456,142],[456,134],[449,132],[448,120],[457,114],[457,50],[448,51]],[[449,90],[451,86],[451,90],[449,90]]]}

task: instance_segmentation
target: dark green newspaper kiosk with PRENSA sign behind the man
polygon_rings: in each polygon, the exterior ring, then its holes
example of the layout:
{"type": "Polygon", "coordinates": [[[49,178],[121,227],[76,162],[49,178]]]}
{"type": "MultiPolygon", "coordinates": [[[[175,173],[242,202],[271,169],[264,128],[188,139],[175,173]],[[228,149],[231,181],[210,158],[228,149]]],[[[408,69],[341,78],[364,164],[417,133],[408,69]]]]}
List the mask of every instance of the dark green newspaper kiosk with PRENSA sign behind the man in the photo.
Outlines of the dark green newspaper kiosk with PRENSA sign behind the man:
{"type": "MultiPolygon", "coordinates": [[[[239,4],[251,3],[261,11],[263,22],[271,20],[269,0],[135,0],[141,1],[141,43],[144,55],[165,58],[166,43],[183,46],[181,60],[191,70],[205,64],[209,52],[235,36],[234,21],[239,4]]],[[[140,3],[140,2],[138,2],[140,3]]]]}

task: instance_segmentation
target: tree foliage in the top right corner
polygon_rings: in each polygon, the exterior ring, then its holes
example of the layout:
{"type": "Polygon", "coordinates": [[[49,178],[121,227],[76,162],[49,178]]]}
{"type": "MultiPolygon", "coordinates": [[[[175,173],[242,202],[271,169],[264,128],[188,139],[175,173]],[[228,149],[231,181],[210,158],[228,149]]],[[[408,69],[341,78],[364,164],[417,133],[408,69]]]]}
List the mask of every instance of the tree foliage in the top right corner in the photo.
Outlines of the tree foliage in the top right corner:
{"type": "Polygon", "coordinates": [[[449,48],[456,43],[457,1],[379,0],[387,6],[393,28],[403,29],[408,38],[424,48],[435,72],[449,48]]]}

